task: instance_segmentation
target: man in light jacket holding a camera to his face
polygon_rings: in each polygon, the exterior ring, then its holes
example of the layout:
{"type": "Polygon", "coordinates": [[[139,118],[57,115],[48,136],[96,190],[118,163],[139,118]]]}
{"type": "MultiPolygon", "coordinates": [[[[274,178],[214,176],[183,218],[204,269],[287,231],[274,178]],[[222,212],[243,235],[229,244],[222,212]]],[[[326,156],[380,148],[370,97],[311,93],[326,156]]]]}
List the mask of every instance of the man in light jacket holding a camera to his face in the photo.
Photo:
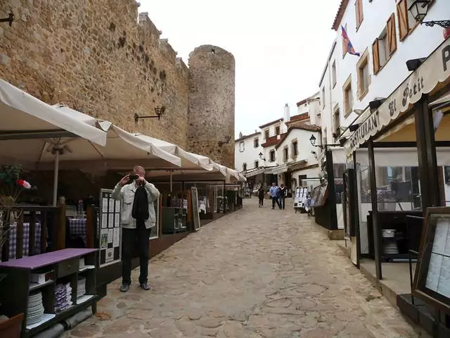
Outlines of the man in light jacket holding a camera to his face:
{"type": "Polygon", "coordinates": [[[158,200],[160,192],[147,182],[146,170],[136,165],[133,174],[127,175],[116,184],[111,196],[122,201],[120,220],[122,223],[122,286],[121,292],[127,292],[131,284],[131,258],[134,248],[139,251],[141,275],[139,284],[144,290],[148,285],[148,244],[150,229],[155,226],[156,215],[154,201],[158,200]]]}

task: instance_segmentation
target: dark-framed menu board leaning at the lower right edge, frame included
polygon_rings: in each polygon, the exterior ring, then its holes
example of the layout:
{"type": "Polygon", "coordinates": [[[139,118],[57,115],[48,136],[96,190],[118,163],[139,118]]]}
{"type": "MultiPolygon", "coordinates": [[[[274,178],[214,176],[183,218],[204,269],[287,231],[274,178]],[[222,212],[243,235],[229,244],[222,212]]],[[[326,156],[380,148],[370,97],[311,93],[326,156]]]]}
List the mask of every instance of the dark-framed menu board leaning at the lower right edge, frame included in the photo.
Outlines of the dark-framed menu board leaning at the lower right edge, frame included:
{"type": "Polygon", "coordinates": [[[450,208],[425,215],[413,296],[450,314],[450,208]]]}

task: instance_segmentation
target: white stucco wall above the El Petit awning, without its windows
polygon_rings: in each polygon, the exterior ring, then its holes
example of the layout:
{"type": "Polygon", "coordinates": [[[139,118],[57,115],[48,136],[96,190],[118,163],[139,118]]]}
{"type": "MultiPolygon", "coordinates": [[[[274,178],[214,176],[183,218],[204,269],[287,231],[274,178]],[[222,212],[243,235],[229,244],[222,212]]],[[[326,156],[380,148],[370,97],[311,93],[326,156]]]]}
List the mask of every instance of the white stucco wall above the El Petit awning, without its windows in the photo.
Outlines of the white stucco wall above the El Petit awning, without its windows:
{"type": "MultiPolygon", "coordinates": [[[[362,0],[364,18],[357,30],[355,0],[349,1],[342,15],[342,20],[340,22],[337,20],[336,39],[319,82],[321,100],[323,100],[323,92],[325,93],[325,104],[322,104],[321,125],[323,137],[326,137],[328,143],[334,143],[331,141],[333,140],[333,132],[335,132],[333,113],[337,109],[339,109],[339,121],[342,130],[357,117],[356,113],[346,114],[345,112],[344,87],[346,82],[351,82],[352,111],[363,111],[368,107],[370,101],[389,96],[409,76],[411,72],[406,68],[406,61],[413,58],[426,58],[444,41],[442,27],[413,25],[413,18],[410,13],[408,13],[408,20],[411,30],[401,40],[399,15],[397,13],[399,1],[362,0]],[[396,48],[390,54],[387,62],[381,66],[380,70],[374,72],[373,43],[375,39],[383,35],[384,30],[387,30],[387,20],[390,18],[394,20],[396,48]],[[361,57],[348,53],[343,56],[342,26],[347,27],[349,40],[352,42],[355,51],[361,54],[361,57]],[[365,57],[364,54],[367,55],[368,63],[368,90],[366,94],[361,95],[358,92],[358,73],[359,62],[365,57]],[[333,72],[333,69],[335,69],[335,72],[333,72]],[[335,78],[335,84],[333,78],[335,78]]],[[[406,0],[406,2],[409,6],[411,1],[406,0]]],[[[448,0],[435,0],[428,9],[428,15],[425,20],[442,20],[442,18],[450,18],[450,3],[448,0]]]]}

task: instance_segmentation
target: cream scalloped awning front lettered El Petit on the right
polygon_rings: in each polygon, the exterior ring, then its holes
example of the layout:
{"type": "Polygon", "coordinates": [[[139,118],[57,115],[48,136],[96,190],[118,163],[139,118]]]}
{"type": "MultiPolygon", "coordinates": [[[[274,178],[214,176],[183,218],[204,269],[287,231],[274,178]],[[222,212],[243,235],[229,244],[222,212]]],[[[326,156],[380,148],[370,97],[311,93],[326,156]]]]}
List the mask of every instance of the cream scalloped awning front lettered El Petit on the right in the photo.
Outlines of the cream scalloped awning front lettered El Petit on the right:
{"type": "Polygon", "coordinates": [[[450,77],[450,38],[441,44],[420,67],[415,70],[344,144],[347,158],[371,137],[401,113],[409,110],[410,104],[415,104],[423,94],[430,93],[439,82],[450,77]]]}

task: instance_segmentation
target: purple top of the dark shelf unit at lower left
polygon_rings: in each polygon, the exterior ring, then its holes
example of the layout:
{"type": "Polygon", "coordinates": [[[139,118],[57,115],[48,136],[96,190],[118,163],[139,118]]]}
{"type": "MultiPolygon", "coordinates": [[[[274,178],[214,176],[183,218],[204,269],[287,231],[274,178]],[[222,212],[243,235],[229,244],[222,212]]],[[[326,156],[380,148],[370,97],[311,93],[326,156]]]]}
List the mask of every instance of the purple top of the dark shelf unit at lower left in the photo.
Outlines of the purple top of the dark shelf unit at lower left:
{"type": "Polygon", "coordinates": [[[97,251],[97,249],[63,249],[20,259],[13,259],[7,262],[1,262],[0,267],[25,268],[33,270],[41,268],[45,265],[51,265],[60,261],[65,261],[69,258],[84,256],[87,253],[92,253],[95,251],[97,251]]]}

